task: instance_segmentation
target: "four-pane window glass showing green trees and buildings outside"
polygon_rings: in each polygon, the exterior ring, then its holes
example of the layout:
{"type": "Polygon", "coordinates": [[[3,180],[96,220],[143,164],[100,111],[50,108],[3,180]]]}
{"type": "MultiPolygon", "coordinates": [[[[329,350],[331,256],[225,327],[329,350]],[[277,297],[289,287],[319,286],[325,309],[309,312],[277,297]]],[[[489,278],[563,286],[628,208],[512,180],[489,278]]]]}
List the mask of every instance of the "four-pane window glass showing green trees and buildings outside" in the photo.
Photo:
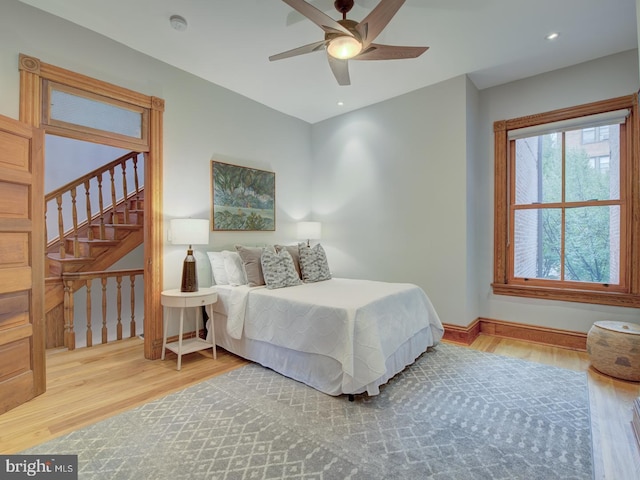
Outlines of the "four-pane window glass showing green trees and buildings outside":
{"type": "Polygon", "coordinates": [[[519,138],[513,276],[620,282],[620,125],[519,138]]]}

